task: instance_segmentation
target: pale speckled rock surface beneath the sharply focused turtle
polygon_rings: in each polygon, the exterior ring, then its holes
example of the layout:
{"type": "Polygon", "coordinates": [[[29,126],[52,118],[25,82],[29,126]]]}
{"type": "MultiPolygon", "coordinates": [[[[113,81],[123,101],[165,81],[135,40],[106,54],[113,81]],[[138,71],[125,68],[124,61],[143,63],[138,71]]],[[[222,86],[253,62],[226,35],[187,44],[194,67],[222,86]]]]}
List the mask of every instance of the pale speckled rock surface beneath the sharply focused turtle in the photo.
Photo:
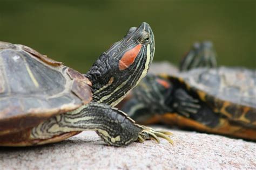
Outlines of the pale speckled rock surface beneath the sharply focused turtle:
{"type": "Polygon", "coordinates": [[[256,143],[170,131],[174,145],[160,139],[111,147],[86,131],[56,144],[0,147],[0,169],[256,169],[256,143]]]}

